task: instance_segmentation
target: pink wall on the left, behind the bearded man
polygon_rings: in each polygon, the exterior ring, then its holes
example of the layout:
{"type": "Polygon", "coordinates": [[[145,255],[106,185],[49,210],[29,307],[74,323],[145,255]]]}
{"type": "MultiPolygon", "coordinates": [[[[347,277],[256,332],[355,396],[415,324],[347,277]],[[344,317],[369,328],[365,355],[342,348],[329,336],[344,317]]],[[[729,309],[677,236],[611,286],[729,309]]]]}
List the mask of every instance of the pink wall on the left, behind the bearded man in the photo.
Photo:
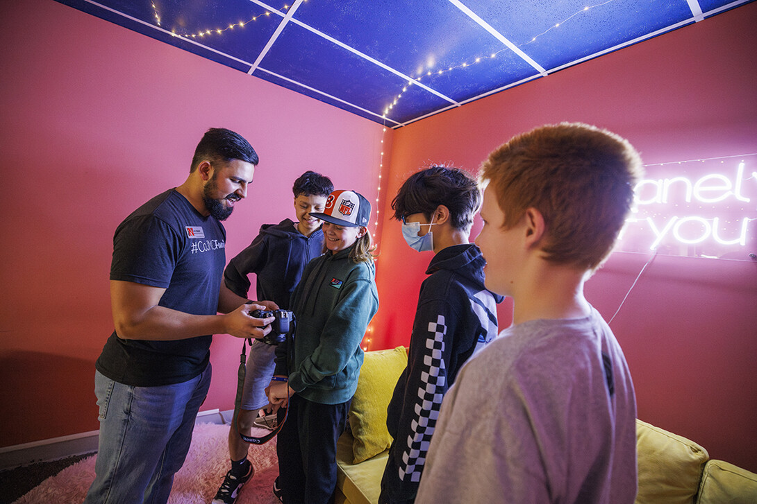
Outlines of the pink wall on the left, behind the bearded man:
{"type": "MultiPolygon", "coordinates": [[[[207,128],[239,131],[261,159],[226,221],[227,259],[293,215],[307,169],[375,199],[374,122],[50,0],[4,4],[0,44],[0,447],[98,428],[113,232],[185,180],[207,128]]],[[[203,410],[233,407],[240,350],[216,337],[203,410]]]]}

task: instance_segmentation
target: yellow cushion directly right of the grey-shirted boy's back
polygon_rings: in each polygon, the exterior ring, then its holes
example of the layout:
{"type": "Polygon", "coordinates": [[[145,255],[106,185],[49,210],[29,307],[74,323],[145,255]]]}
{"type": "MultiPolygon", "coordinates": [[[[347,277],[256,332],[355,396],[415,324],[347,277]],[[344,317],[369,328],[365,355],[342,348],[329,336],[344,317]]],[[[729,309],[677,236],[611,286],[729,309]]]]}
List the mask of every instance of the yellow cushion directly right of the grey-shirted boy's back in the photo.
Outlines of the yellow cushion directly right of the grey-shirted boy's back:
{"type": "Polygon", "coordinates": [[[709,455],[699,444],[636,421],[639,460],[637,504],[691,504],[709,455]]]}

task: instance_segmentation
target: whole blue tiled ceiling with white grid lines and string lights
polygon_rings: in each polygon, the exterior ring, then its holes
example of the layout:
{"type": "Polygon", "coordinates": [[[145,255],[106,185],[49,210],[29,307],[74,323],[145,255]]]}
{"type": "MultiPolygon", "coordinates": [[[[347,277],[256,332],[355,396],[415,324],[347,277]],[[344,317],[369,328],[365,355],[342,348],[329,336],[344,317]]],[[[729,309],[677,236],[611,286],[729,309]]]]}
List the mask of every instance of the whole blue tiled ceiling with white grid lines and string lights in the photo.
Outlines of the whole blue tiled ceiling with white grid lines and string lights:
{"type": "Polygon", "coordinates": [[[57,1],[397,128],[753,0],[57,1]]]}

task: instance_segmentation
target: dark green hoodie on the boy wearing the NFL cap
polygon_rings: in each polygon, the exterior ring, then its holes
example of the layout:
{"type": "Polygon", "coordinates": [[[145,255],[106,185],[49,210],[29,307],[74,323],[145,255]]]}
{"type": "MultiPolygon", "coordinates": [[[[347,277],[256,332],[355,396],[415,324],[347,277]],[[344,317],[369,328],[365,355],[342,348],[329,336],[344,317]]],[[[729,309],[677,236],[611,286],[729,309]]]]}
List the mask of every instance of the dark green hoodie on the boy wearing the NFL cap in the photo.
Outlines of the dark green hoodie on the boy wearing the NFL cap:
{"type": "Polygon", "coordinates": [[[363,365],[363,341],[378,310],[372,261],[354,263],[353,249],[326,252],[305,267],[290,306],[297,320],[294,341],[276,348],[277,375],[307,400],[350,400],[363,365]]]}

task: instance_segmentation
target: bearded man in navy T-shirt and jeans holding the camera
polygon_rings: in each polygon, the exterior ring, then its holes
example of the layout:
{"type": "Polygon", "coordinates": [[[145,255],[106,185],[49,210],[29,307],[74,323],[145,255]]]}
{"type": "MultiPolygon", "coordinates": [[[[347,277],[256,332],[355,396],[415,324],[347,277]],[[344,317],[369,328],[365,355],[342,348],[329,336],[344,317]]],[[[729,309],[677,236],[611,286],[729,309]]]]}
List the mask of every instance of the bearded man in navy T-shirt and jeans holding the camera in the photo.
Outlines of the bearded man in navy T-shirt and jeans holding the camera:
{"type": "Polygon", "coordinates": [[[210,386],[214,333],[262,338],[277,308],[223,283],[220,221],[247,194],[258,157],[234,131],[210,128],[184,184],[116,229],[111,263],[115,331],[95,367],[100,440],[85,502],[167,502],[210,386]],[[219,314],[219,312],[221,314],[219,314]]]}

